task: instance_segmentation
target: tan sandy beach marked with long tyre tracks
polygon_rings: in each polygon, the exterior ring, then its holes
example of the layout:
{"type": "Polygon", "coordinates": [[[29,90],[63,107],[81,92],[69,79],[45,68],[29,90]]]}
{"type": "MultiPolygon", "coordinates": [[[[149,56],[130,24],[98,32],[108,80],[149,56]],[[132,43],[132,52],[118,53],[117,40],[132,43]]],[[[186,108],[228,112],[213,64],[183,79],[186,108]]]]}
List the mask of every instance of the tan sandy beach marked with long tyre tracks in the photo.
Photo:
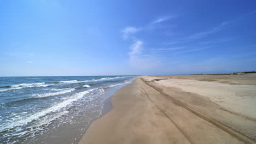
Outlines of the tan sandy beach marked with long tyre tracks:
{"type": "Polygon", "coordinates": [[[138,76],[81,143],[255,143],[256,74],[138,76]]]}

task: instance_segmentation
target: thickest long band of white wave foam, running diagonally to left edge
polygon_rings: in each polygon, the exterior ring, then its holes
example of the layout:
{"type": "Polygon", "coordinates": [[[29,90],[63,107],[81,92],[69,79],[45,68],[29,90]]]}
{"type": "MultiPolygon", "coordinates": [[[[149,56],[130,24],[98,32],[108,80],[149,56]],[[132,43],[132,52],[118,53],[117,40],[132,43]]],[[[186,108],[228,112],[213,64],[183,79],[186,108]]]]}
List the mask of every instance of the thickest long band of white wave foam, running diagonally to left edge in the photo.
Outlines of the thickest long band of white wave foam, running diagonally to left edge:
{"type": "Polygon", "coordinates": [[[30,123],[42,116],[45,116],[46,114],[50,113],[50,112],[55,112],[55,111],[59,111],[61,110],[63,107],[66,107],[69,104],[72,104],[74,101],[77,101],[81,98],[84,97],[84,95],[88,94],[91,91],[94,91],[97,88],[94,89],[89,89],[88,91],[84,91],[84,92],[80,92],[80,93],[75,93],[73,95],[71,95],[71,97],[69,97],[66,100],[61,101],[60,103],[55,104],[54,106],[49,107],[48,109],[42,110],[40,112],[34,113],[31,116],[25,117],[20,119],[19,121],[14,121],[14,122],[10,122],[6,125],[3,125],[2,128],[0,128],[0,131],[3,131],[5,129],[10,129],[13,127],[17,127],[17,126],[21,126],[21,125],[25,125],[27,123],[30,123]]]}

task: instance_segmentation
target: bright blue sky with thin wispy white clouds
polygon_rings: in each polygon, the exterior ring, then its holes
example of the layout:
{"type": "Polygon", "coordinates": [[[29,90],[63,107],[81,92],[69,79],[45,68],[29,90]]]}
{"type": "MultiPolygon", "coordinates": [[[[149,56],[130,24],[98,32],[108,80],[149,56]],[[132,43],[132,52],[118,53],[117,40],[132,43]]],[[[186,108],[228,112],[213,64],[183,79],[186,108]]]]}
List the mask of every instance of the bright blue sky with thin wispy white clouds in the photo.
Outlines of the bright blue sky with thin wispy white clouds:
{"type": "Polygon", "coordinates": [[[0,76],[256,70],[256,1],[0,3],[0,76]]]}

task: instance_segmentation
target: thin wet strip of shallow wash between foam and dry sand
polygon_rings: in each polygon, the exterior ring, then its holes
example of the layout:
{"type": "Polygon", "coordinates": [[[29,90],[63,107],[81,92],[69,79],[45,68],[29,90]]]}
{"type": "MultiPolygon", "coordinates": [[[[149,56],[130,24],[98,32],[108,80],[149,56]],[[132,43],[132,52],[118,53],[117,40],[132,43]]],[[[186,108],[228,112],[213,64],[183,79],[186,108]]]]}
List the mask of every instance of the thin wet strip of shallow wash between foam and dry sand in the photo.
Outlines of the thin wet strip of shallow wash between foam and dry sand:
{"type": "MultiPolygon", "coordinates": [[[[134,80],[134,78],[133,78],[134,80]]],[[[97,119],[101,118],[102,116],[106,115],[109,111],[112,110],[112,103],[110,101],[111,97],[117,92],[120,88],[126,86],[127,84],[131,83],[133,80],[129,82],[122,83],[121,85],[115,87],[107,87],[104,89],[104,94],[101,97],[97,98],[96,100],[92,101],[91,105],[96,105],[93,110],[90,112],[92,113],[83,113],[80,117],[80,122],[78,124],[73,124],[71,127],[65,127],[60,131],[56,131],[56,133],[51,133],[50,136],[44,137],[43,143],[79,143],[79,140],[82,139],[82,136],[86,133],[86,131],[90,128],[90,125],[96,121],[97,119]],[[90,119],[90,122],[86,121],[83,122],[82,119],[90,119]],[[81,133],[81,130],[82,133],[81,133]],[[70,134],[72,133],[72,134],[70,134]],[[63,137],[64,136],[64,137],[63,137]],[[60,139],[60,137],[63,137],[60,139]],[[67,139],[68,137],[68,139],[67,139]]],[[[40,140],[40,139],[39,139],[40,140]]],[[[34,141],[32,143],[40,143],[40,141],[34,141]]]]}

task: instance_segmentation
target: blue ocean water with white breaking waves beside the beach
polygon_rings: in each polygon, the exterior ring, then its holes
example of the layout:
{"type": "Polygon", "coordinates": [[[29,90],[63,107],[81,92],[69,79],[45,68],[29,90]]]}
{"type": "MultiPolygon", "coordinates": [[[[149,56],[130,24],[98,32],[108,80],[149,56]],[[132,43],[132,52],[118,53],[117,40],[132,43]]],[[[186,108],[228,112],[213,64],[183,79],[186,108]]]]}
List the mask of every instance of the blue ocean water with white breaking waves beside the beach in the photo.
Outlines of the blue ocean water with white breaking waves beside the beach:
{"type": "Polygon", "coordinates": [[[0,77],[0,143],[77,143],[104,101],[134,79],[0,77]]]}

